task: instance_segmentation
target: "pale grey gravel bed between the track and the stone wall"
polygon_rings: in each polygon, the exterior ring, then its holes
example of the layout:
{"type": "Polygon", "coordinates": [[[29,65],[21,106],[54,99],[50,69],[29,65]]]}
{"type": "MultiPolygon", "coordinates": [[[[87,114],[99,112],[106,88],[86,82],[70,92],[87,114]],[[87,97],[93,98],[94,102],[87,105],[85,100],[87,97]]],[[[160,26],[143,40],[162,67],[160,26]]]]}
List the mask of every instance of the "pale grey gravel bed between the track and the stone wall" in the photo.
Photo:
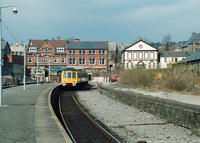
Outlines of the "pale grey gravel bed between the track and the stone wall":
{"type": "Polygon", "coordinates": [[[101,95],[96,89],[77,92],[79,102],[90,114],[128,143],[199,143],[200,137],[148,113],[140,112],[101,95]],[[153,125],[152,125],[153,124],[153,125]]]}

